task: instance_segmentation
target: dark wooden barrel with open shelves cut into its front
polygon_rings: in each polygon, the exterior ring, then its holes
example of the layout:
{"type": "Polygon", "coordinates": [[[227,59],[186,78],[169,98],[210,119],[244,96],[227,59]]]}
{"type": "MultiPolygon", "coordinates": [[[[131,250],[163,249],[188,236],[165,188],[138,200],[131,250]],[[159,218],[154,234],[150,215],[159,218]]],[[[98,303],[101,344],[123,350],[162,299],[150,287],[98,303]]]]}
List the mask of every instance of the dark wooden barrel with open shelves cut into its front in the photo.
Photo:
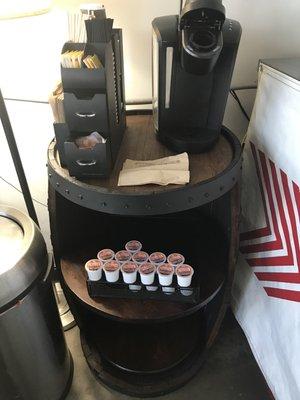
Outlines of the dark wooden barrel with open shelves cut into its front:
{"type": "Polygon", "coordinates": [[[190,155],[186,186],[117,187],[126,158],[172,155],[155,138],[152,117],[127,118],[109,179],[81,182],[48,151],[49,212],[56,265],[95,376],[138,397],[165,394],[188,382],[212,345],[230,300],[238,249],[241,146],[223,129],[210,152],[190,155]],[[101,248],[139,239],[146,251],[180,252],[195,269],[195,304],[92,299],[84,263],[101,248]]]}

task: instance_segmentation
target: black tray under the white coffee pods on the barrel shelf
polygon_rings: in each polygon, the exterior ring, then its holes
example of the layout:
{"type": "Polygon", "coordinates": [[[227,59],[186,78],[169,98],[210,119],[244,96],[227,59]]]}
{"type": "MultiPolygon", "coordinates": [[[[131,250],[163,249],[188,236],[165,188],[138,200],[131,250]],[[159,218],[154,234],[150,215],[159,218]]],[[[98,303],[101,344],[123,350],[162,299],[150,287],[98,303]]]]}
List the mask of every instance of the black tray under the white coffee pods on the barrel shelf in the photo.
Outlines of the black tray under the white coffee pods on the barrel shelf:
{"type": "Polygon", "coordinates": [[[140,299],[157,300],[178,303],[197,304],[200,301],[200,287],[191,285],[183,288],[177,285],[176,277],[173,278],[171,286],[159,284],[158,277],[155,277],[152,285],[141,283],[140,277],[133,284],[124,283],[122,277],[115,283],[108,283],[104,276],[99,281],[87,279],[87,289],[91,298],[119,298],[119,299],[140,299]]]}

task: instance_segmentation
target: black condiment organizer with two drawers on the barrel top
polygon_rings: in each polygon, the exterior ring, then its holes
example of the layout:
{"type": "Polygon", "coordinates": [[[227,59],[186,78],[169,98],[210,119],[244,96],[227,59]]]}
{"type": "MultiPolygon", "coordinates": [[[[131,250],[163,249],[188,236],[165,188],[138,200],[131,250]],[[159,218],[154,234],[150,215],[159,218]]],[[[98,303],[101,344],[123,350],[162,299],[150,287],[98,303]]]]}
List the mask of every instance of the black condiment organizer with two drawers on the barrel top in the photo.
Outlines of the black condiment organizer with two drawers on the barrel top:
{"type": "Polygon", "coordinates": [[[122,31],[113,29],[109,41],[72,43],[68,50],[82,50],[84,57],[96,54],[103,67],[61,67],[65,123],[54,124],[61,165],[77,178],[109,176],[126,128],[122,31]],[[98,132],[104,143],[78,148],[76,138],[98,132]]]}

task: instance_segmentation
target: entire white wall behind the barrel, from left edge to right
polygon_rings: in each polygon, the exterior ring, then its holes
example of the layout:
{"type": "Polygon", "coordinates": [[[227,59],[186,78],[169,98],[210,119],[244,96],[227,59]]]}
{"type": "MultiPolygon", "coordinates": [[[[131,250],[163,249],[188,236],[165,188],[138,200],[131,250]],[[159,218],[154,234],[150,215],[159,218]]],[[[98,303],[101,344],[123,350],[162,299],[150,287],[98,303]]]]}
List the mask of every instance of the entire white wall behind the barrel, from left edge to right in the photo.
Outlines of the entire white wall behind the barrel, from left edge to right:
{"type": "MultiPolygon", "coordinates": [[[[151,97],[151,20],[176,13],[179,0],[103,0],[115,25],[124,29],[127,99],[151,97]]],[[[59,7],[77,7],[78,0],[56,0],[59,7]]],[[[243,36],[233,85],[256,83],[260,58],[300,56],[299,0],[224,0],[227,16],[240,21],[243,36]]],[[[0,21],[0,87],[5,96],[46,100],[59,79],[59,54],[66,40],[67,26],[62,9],[50,14],[14,21],[0,21]]],[[[240,93],[250,112],[255,92],[240,93]]],[[[26,161],[33,195],[46,201],[46,144],[52,136],[48,106],[9,102],[20,152],[26,161]],[[24,135],[27,139],[24,140],[24,135]],[[34,141],[34,145],[33,145],[34,141]],[[36,157],[36,155],[39,155],[36,157]]],[[[247,127],[237,105],[230,98],[225,124],[242,135],[247,127]]],[[[0,130],[0,175],[17,182],[0,130]]],[[[0,182],[0,203],[18,207],[22,199],[0,182]]],[[[38,206],[39,207],[39,206],[38,206]]],[[[46,209],[39,207],[46,224],[46,209]]]]}

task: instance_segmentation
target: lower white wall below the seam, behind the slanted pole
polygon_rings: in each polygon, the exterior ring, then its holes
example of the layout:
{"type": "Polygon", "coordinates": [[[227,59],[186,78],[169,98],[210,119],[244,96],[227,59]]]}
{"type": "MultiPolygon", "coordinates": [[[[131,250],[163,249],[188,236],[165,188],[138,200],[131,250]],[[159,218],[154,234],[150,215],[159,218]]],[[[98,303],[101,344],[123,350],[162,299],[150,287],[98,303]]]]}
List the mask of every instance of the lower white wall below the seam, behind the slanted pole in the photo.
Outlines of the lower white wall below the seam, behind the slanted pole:
{"type": "MultiPolygon", "coordinates": [[[[15,138],[18,143],[41,229],[50,249],[47,211],[47,148],[53,138],[52,113],[48,105],[7,102],[15,138]],[[40,204],[41,203],[41,204],[40,204]]],[[[19,188],[18,177],[10,156],[2,126],[0,128],[0,176],[19,188]]],[[[23,196],[0,179],[0,204],[26,212],[23,196]]]]}

